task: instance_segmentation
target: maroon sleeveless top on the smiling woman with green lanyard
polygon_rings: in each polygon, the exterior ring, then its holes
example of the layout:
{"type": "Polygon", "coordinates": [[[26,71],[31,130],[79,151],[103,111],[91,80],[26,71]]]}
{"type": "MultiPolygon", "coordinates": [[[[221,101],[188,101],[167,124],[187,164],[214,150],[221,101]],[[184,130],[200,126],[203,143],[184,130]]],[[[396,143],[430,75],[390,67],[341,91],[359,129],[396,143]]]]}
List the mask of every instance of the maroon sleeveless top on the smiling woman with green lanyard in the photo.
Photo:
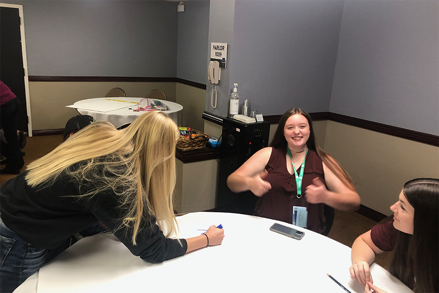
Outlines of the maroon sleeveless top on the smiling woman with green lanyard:
{"type": "MultiPolygon", "coordinates": [[[[286,147],[272,147],[270,159],[265,166],[268,175],[264,178],[271,184],[271,189],[259,197],[254,215],[291,224],[293,206],[306,207],[307,229],[322,233],[326,228],[323,204],[309,204],[305,200],[305,189],[313,183],[314,178],[319,177],[325,183],[322,161],[314,150],[308,150],[302,179],[302,197],[297,198],[295,175],[288,172],[286,155],[286,147]]],[[[300,173],[300,167],[297,172],[300,173]]]]}

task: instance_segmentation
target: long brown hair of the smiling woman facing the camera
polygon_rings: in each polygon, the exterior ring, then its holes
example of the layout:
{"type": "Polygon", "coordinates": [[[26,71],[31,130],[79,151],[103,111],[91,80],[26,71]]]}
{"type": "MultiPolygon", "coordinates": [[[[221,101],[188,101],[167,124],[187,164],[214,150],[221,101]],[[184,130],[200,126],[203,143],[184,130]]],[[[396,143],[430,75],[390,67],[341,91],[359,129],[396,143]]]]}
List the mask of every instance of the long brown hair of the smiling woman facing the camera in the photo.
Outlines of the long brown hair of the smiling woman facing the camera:
{"type": "Polygon", "coordinates": [[[273,140],[271,141],[270,146],[276,148],[285,148],[287,146],[287,141],[285,136],[283,135],[283,128],[285,127],[285,123],[290,118],[290,116],[300,114],[308,120],[309,124],[309,139],[306,142],[306,146],[309,149],[312,149],[317,152],[319,158],[325,163],[325,165],[343,182],[343,184],[351,190],[355,190],[354,183],[352,181],[351,176],[340,166],[340,164],[331,157],[327,152],[325,152],[317,143],[316,136],[314,135],[314,128],[311,116],[299,108],[294,108],[286,111],[282,117],[280,117],[278,128],[276,128],[275,135],[273,140]]]}

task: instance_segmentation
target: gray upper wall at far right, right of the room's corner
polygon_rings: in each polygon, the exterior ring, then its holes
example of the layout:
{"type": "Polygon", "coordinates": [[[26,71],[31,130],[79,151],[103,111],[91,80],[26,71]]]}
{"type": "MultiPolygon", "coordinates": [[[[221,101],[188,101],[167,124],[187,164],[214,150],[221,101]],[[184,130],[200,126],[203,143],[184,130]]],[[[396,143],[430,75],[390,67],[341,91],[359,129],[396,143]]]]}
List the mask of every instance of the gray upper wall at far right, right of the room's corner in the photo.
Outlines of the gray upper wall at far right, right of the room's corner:
{"type": "Polygon", "coordinates": [[[330,111],[439,135],[439,2],[345,0],[330,111]]]}

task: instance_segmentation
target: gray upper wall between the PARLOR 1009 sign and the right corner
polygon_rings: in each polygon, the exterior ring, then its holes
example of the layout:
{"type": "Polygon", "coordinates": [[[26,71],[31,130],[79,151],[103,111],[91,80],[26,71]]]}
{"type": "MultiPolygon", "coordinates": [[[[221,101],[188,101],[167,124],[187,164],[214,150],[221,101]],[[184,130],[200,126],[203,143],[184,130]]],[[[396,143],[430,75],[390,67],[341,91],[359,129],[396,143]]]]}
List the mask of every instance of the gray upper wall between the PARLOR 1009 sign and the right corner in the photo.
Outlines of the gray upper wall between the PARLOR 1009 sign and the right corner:
{"type": "MultiPolygon", "coordinates": [[[[343,2],[235,0],[233,14],[211,7],[211,25],[218,15],[233,23],[226,69],[230,79],[223,80],[226,70],[222,70],[220,81],[221,89],[228,86],[228,90],[219,92],[216,112],[227,115],[234,83],[239,84],[240,102],[249,99],[252,109],[264,115],[293,107],[328,111],[343,2]]],[[[209,35],[210,42],[226,42],[219,40],[221,33],[209,35]]],[[[209,85],[206,101],[210,101],[209,85]]]]}

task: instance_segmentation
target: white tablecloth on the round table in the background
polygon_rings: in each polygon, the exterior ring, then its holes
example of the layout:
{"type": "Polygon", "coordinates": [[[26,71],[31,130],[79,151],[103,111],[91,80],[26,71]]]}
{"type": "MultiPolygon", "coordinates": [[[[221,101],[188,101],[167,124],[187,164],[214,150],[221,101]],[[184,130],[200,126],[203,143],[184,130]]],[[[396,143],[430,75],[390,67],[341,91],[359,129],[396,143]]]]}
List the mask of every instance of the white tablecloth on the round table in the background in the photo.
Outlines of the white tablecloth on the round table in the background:
{"type": "MultiPolygon", "coordinates": [[[[116,128],[119,128],[120,126],[132,123],[137,117],[139,117],[141,114],[146,113],[144,111],[135,112],[131,110],[130,108],[136,108],[137,104],[133,103],[123,103],[121,101],[127,101],[127,102],[135,102],[139,103],[142,98],[94,98],[94,99],[87,99],[87,100],[81,100],[73,105],[69,105],[68,107],[76,108],[78,112],[82,115],[90,115],[95,118],[96,121],[99,120],[105,120],[113,124],[116,128]],[[108,104],[108,101],[113,101],[112,103],[115,104],[115,108],[117,108],[118,104],[123,106],[122,108],[112,110],[112,111],[99,111],[95,109],[94,105],[99,104],[100,102],[108,104]],[[92,108],[92,109],[90,109],[92,108]]],[[[157,100],[161,103],[168,105],[170,110],[163,111],[163,113],[166,113],[169,115],[169,117],[172,118],[172,120],[177,125],[184,125],[183,121],[183,106],[174,102],[170,101],[163,101],[163,100],[157,100]]],[[[102,109],[106,110],[106,109],[102,109]]]]}

